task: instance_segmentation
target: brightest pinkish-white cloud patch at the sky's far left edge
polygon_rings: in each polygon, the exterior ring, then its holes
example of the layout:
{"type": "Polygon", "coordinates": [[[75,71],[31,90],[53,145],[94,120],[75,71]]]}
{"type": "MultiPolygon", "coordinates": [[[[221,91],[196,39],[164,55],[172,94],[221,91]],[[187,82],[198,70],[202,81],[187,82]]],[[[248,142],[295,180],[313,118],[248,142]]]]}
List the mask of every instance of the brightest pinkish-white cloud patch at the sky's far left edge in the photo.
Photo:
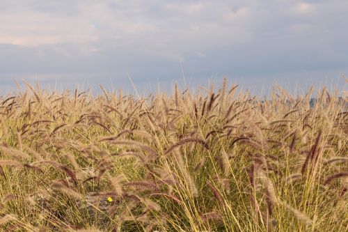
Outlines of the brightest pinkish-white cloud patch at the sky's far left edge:
{"type": "Polygon", "coordinates": [[[0,43],[22,46],[95,42],[93,26],[79,17],[57,17],[47,13],[2,13],[0,43]]]}

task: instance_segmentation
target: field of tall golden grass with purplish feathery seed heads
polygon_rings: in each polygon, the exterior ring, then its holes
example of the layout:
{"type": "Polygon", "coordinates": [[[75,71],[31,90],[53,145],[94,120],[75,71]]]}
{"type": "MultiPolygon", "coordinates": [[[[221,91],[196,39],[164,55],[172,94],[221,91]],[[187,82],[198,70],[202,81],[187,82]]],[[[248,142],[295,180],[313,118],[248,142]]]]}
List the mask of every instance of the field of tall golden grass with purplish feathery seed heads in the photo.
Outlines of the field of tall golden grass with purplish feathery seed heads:
{"type": "Polygon", "coordinates": [[[1,97],[0,230],[348,231],[345,94],[27,84],[1,97]]]}

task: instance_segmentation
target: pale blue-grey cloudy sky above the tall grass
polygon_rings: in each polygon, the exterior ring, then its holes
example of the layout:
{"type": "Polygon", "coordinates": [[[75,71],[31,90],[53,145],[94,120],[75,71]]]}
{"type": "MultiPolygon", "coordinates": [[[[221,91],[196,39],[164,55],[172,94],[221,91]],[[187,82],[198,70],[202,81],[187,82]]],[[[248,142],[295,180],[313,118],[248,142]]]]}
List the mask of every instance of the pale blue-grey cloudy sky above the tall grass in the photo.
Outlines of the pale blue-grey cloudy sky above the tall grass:
{"type": "Polygon", "coordinates": [[[347,0],[0,0],[0,88],[344,88],[347,0]],[[134,86],[133,86],[134,85],[134,86]]]}

